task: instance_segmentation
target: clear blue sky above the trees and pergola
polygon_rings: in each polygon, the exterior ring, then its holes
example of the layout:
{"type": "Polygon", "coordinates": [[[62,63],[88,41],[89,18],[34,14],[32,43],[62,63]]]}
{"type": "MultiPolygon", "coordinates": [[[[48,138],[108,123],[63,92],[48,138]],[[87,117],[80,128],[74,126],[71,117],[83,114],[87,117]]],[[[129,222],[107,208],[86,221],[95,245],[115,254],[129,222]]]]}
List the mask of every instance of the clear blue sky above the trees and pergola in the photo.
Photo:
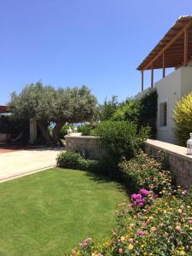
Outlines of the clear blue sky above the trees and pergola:
{"type": "Polygon", "coordinates": [[[0,105],[39,79],[87,84],[99,102],[134,96],[138,64],[180,15],[192,15],[191,0],[0,1],[0,105]]]}

